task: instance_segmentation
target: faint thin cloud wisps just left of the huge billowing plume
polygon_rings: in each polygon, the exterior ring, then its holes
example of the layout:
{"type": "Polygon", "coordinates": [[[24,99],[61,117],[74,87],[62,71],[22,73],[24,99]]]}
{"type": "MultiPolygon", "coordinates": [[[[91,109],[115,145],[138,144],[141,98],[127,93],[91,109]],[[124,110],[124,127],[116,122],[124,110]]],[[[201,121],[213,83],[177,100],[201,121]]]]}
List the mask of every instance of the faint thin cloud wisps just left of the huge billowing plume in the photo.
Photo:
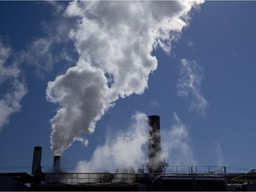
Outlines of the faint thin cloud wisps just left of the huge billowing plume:
{"type": "MultiPolygon", "coordinates": [[[[56,66],[73,66],[74,51],[71,40],[67,37],[72,25],[63,20],[41,24],[46,36],[38,37],[19,52],[19,57],[27,66],[35,68],[36,76],[44,78],[45,74],[56,66]]],[[[60,67],[59,67],[60,68],[60,67]]]]}

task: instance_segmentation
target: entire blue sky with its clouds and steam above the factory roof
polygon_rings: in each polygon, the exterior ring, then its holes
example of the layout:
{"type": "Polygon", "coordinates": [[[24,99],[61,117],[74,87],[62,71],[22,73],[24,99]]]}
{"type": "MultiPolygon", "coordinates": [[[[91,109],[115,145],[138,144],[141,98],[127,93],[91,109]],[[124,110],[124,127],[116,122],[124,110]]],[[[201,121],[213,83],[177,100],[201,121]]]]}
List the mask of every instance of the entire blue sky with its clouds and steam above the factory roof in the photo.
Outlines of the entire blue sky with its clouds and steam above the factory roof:
{"type": "Polygon", "coordinates": [[[136,4],[120,13],[105,2],[83,11],[91,5],[0,2],[0,172],[30,172],[35,146],[43,147],[44,171],[51,170],[52,124],[67,171],[138,165],[147,153],[145,116],[153,114],[161,116],[170,164],[255,167],[255,2],[206,1],[184,23],[185,3],[136,4]],[[88,84],[97,94],[81,91],[88,84]],[[56,115],[60,106],[67,116],[56,115]],[[65,136],[76,138],[69,148],[65,136]]]}

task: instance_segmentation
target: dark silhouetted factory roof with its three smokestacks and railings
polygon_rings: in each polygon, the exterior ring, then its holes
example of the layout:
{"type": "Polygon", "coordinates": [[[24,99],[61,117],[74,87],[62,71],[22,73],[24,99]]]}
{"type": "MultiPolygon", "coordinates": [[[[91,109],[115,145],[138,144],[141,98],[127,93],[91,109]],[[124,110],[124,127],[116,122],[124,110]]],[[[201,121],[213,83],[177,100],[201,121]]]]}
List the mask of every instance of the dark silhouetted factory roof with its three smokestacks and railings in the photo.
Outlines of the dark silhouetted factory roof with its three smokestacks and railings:
{"type": "Polygon", "coordinates": [[[148,161],[136,172],[61,172],[54,156],[52,172],[41,170],[42,148],[35,147],[32,172],[0,172],[0,190],[8,191],[230,191],[256,190],[256,169],[228,173],[226,167],[171,166],[161,159],[160,117],[148,116],[148,161]]]}

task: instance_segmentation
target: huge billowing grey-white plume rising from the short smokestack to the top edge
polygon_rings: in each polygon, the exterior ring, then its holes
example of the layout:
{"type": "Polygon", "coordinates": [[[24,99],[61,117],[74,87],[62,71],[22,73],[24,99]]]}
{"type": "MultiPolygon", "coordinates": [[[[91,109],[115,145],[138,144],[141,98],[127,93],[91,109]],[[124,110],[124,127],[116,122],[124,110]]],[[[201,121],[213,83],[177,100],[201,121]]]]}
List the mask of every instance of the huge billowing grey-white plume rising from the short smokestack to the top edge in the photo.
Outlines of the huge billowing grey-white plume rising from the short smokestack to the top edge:
{"type": "Polygon", "coordinates": [[[92,133],[118,98],[147,89],[148,75],[157,67],[153,49],[170,51],[170,43],[186,26],[188,12],[200,3],[75,1],[68,5],[66,16],[77,22],[69,37],[79,59],[47,87],[47,99],[60,105],[52,118],[55,155],[75,140],[87,144],[83,132],[92,133]]]}

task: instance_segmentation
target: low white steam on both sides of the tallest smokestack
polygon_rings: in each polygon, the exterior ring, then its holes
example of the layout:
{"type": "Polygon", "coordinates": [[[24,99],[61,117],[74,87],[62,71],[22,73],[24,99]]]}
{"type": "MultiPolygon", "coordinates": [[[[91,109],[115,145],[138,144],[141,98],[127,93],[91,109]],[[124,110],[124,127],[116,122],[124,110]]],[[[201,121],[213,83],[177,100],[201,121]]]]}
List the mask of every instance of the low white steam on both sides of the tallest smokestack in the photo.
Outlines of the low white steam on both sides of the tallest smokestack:
{"type": "MultiPolygon", "coordinates": [[[[176,113],[172,119],[171,127],[161,131],[163,159],[172,165],[196,164],[193,148],[190,147],[188,127],[176,113]]],[[[75,172],[113,172],[116,168],[121,172],[131,172],[131,168],[141,167],[146,158],[148,116],[137,112],[132,116],[132,124],[125,131],[108,135],[106,142],[94,150],[90,160],[78,162],[75,172]]]]}

